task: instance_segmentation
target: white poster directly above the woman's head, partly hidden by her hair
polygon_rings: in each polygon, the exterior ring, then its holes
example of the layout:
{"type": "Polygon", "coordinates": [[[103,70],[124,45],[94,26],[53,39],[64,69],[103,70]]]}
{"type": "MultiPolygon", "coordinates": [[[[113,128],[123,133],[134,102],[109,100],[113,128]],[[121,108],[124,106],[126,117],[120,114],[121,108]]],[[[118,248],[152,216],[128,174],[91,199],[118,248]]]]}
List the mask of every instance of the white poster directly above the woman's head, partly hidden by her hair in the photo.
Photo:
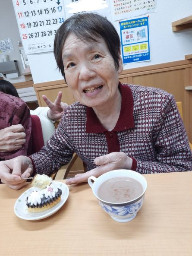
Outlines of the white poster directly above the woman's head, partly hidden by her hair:
{"type": "Polygon", "coordinates": [[[110,22],[110,0],[65,0],[66,19],[76,13],[95,12],[106,17],[110,22]]]}

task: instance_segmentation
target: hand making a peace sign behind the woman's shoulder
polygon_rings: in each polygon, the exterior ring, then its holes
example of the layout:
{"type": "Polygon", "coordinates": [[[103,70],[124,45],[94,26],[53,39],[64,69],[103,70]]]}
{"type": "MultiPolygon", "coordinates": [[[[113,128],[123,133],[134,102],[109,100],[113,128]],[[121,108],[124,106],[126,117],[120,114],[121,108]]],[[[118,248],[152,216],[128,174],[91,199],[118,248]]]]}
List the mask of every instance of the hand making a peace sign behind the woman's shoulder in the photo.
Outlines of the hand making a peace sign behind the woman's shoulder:
{"type": "Polygon", "coordinates": [[[51,120],[59,120],[63,114],[63,111],[68,106],[68,104],[61,102],[62,92],[58,93],[57,98],[54,101],[54,103],[52,101],[50,101],[47,98],[47,96],[45,96],[45,95],[42,95],[42,98],[44,99],[47,106],[50,108],[47,112],[47,116],[51,120]]]}

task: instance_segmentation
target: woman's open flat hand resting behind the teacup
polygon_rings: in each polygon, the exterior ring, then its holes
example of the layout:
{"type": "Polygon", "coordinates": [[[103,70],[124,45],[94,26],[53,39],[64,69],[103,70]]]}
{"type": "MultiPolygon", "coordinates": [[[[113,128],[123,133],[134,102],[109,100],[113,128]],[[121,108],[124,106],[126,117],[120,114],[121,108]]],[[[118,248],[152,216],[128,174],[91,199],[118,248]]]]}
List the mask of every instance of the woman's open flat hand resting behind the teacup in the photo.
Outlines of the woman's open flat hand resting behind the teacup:
{"type": "Polygon", "coordinates": [[[76,174],[74,178],[66,180],[66,184],[76,184],[81,182],[87,182],[91,176],[99,177],[101,174],[107,171],[118,170],[118,169],[131,169],[132,158],[129,158],[123,152],[113,152],[108,155],[103,155],[94,159],[94,163],[99,165],[98,167],[87,171],[84,174],[76,174]]]}

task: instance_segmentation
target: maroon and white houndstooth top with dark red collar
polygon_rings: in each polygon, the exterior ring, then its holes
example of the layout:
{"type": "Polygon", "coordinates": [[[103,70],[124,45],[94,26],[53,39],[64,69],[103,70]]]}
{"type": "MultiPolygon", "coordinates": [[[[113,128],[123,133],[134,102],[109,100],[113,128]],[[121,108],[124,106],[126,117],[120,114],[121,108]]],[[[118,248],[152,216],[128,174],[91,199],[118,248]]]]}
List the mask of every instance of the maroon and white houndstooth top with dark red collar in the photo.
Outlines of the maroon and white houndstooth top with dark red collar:
{"type": "Polygon", "coordinates": [[[119,120],[107,131],[94,111],[79,102],[66,108],[53,136],[31,155],[34,173],[50,174],[72,158],[73,152],[95,168],[94,158],[125,152],[132,170],[141,174],[191,171],[192,152],[172,95],[158,89],[119,83],[119,120]]]}

